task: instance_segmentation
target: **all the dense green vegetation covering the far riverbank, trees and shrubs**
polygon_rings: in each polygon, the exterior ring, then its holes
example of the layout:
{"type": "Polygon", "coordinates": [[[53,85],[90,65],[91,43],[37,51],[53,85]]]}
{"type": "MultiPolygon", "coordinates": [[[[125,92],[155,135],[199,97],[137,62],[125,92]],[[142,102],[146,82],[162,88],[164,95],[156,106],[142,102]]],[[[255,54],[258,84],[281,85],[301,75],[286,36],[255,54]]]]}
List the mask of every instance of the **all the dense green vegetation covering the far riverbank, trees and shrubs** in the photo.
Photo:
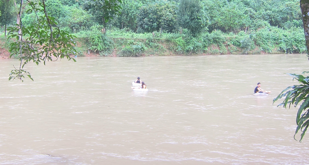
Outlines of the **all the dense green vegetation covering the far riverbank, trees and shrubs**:
{"type": "MultiPolygon", "coordinates": [[[[2,33],[16,23],[14,1],[1,1],[2,33]]],[[[79,56],[306,52],[298,0],[123,0],[108,22],[104,1],[45,2],[57,26],[78,37],[79,56]]],[[[28,9],[25,27],[37,18],[28,9]]]]}

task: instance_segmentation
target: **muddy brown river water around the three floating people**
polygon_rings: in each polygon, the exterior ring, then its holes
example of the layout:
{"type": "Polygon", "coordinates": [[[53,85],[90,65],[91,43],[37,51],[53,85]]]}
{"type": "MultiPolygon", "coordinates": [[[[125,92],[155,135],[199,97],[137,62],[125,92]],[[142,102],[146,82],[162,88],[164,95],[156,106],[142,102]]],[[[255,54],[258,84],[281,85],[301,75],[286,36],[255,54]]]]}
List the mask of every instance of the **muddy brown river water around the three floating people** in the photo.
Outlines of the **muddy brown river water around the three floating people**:
{"type": "Polygon", "coordinates": [[[13,65],[0,60],[0,164],[309,162],[297,109],[272,102],[306,55],[78,57],[29,64],[23,83],[13,65]],[[253,96],[257,82],[272,93],[253,96]]]}

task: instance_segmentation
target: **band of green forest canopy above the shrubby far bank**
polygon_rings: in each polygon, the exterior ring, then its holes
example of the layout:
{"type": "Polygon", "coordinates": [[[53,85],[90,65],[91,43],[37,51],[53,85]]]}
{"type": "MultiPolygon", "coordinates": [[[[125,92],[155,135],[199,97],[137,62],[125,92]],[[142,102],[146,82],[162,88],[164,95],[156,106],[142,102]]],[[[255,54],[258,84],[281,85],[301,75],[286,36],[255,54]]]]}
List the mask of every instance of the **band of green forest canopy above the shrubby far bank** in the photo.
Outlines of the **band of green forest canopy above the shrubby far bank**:
{"type": "MultiPolygon", "coordinates": [[[[0,4],[2,26],[16,23],[16,19],[12,19],[16,15],[12,14],[16,12],[13,1],[15,0],[5,0],[0,4]]],[[[58,25],[70,32],[89,30],[97,25],[113,26],[136,33],[176,32],[180,27],[184,28],[185,21],[189,19],[197,19],[194,26],[204,27],[210,33],[214,30],[237,33],[270,26],[283,29],[303,26],[298,0],[123,0],[120,4],[121,14],[115,15],[108,23],[103,20],[103,11],[98,10],[102,6],[101,2],[46,0],[46,7],[58,25]],[[188,6],[185,10],[184,5],[190,5],[190,2],[195,6],[188,6]],[[197,14],[188,15],[190,12],[197,14]]],[[[28,6],[24,11],[27,10],[28,6]]],[[[33,20],[34,13],[22,13],[25,25],[30,26],[33,20]]],[[[191,31],[190,28],[196,28],[194,26],[187,28],[191,31]]]]}

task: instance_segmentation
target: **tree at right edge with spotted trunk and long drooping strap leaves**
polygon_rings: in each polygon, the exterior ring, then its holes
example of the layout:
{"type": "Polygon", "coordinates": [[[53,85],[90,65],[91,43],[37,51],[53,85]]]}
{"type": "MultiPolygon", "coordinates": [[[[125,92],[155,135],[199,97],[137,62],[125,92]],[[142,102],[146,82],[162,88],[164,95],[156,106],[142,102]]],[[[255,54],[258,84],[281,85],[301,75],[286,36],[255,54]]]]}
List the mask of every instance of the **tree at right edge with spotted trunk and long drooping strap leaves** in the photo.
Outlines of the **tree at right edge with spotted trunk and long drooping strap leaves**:
{"type": "MultiPolygon", "coordinates": [[[[307,46],[307,52],[309,50],[309,1],[308,0],[300,0],[300,8],[303,14],[303,26],[304,26],[304,33],[305,33],[305,40],[307,46]]],[[[308,53],[307,53],[308,54],[308,53]]],[[[309,60],[309,58],[308,58],[309,60]]],[[[309,73],[303,72],[302,74],[309,73]]],[[[309,126],[309,76],[304,77],[303,75],[297,74],[288,74],[293,77],[293,80],[296,79],[301,85],[293,85],[284,89],[275,99],[273,102],[277,101],[278,99],[285,97],[284,101],[279,104],[278,106],[283,105],[284,108],[287,105],[294,105],[296,107],[298,104],[301,104],[298,108],[298,112],[296,115],[296,130],[294,134],[298,133],[300,130],[302,133],[300,135],[299,142],[302,141],[307,128],[309,126]]],[[[296,140],[296,139],[295,139],[296,140]]]]}

